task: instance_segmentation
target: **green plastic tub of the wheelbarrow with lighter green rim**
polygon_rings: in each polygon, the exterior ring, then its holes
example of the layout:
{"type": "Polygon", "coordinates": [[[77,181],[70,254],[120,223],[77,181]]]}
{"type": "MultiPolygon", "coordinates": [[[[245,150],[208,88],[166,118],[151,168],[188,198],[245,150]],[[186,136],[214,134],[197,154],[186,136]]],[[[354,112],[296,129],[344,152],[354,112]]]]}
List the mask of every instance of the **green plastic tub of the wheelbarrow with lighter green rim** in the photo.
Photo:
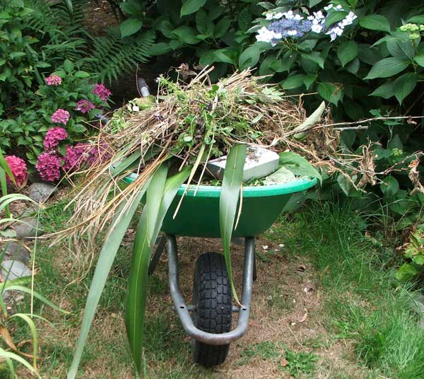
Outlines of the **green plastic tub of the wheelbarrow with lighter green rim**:
{"type": "MultiPolygon", "coordinates": [[[[242,212],[232,236],[254,237],[264,233],[280,216],[292,194],[305,191],[316,183],[316,179],[302,178],[279,185],[244,187],[242,212]]],[[[196,192],[196,185],[190,185],[182,199],[177,215],[173,218],[186,187],[187,185],[182,185],[179,188],[163,221],[162,231],[173,235],[220,238],[219,197],[221,187],[200,185],[196,192]],[[196,196],[194,196],[195,192],[196,196]]]]}

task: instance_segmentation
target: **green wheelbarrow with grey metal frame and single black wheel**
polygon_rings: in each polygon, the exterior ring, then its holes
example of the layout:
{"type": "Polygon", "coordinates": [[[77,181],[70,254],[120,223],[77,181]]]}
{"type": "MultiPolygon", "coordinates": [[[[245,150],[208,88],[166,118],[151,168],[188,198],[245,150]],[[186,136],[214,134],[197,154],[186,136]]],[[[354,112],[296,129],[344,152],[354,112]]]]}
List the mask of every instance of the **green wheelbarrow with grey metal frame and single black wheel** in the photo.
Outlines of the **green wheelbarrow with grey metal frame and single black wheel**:
{"type": "MultiPolygon", "coordinates": [[[[131,174],[125,181],[131,182],[134,177],[135,174],[131,174]]],[[[163,221],[164,235],[151,258],[149,274],[153,273],[167,245],[170,293],[182,327],[192,337],[192,351],[196,363],[206,367],[223,363],[227,358],[230,342],[247,332],[252,286],[256,279],[254,238],[271,227],[292,194],[305,191],[316,182],[316,179],[302,178],[280,185],[243,188],[242,213],[237,228],[232,233],[232,237],[245,238],[241,307],[232,305],[225,259],[218,252],[206,252],[196,260],[192,304],[185,303],[179,289],[175,236],[220,238],[220,187],[201,185],[194,196],[195,186],[190,186],[177,216],[172,218],[186,185],[182,185],[177,192],[163,221]],[[237,327],[233,330],[232,313],[239,314],[237,327]]]]}

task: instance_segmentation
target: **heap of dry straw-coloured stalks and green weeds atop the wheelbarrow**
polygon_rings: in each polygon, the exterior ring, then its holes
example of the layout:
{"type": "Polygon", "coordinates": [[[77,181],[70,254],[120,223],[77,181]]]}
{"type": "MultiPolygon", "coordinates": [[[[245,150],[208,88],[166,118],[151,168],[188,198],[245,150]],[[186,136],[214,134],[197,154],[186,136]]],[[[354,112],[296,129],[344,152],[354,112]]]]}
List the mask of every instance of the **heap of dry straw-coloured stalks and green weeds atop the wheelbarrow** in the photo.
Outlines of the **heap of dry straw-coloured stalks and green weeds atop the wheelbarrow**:
{"type": "MultiPolygon", "coordinates": [[[[160,76],[156,97],[134,99],[114,113],[92,141],[101,151],[100,158],[74,174],[80,179],[73,192],[71,231],[90,230],[95,238],[119,206],[136,197],[170,157],[174,170],[187,165],[192,173],[197,170],[187,184],[201,182],[206,162],[227,154],[236,144],[297,151],[330,172],[341,170],[338,161],[328,159],[336,153],[338,132],[329,124],[324,103],[307,117],[301,98],[288,98],[251,71],[213,84],[208,78],[211,69],[196,74],[180,68],[177,81],[160,76]],[[188,80],[190,75],[194,77],[188,80]],[[129,172],[138,174],[137,179],[120,186],[129,172]]],[[[360,155],[349,157],[349,163],[361,159],[360,155]]]]}

